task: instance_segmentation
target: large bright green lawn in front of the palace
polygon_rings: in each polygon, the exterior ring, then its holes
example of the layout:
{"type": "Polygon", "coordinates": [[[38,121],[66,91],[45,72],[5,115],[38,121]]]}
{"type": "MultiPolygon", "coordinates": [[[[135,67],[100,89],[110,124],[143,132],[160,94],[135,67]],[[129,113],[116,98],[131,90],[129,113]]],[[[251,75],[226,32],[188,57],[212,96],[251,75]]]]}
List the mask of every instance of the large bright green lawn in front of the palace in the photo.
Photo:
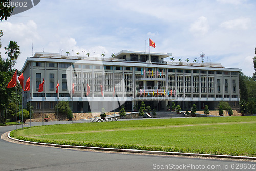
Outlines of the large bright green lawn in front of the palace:
{"type": "Polygon", "coordinates": [[[38,126],[12,136],[81,146],[256,156],[254,116],[38,126]]]}

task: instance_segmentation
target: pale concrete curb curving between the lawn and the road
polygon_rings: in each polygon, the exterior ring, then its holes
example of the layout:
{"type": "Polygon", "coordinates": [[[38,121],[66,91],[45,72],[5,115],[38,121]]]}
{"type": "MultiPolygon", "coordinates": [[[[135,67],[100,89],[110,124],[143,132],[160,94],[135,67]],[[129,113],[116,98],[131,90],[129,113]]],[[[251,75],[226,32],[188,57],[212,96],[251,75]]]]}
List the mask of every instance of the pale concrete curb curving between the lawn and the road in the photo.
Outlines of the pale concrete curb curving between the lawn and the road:
{"type": "Polygon", "coordinates": [[[228,158],[228,159],[256,160],[256,157],[249,157],[249,156],[211,155],[211,154],[200,154],[200,153],[145,151],[145,150],[139,150],[139,149],[118,149],[118,148],[100,148],[100,147],[87,147],[87,146],[47,144],[47,143],[39,143],[39,142],[31,142],[31,141],[15,139],[10,137],[10,132],[8,133],[8,138],[14,141],[24,142],[28,144],[53,146],[53,147],[59,147],[59,148],[77,148],[77,149],[93,149],[93,150],[100,150],[100,151],[144,153],[144,154],[158,154],[158,155],[201,156],[201,157],[216,157],[216,158],[228,158]]]}

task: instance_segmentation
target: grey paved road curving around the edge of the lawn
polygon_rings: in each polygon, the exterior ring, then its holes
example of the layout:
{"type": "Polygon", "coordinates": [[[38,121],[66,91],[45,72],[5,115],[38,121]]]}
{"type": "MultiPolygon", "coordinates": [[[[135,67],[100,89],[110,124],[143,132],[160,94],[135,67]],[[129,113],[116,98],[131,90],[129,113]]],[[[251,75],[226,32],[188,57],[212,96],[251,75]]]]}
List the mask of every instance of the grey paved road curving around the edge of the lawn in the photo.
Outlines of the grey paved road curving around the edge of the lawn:
{"type": "MultiPolygon", "coordinates": [[[[32,126],[41,124],[31,123],[32,126]]],[[[2,126],[0,134],[14,129],[16,126],[2,126]]],[[[256,170],[255,164],[250,161],[77,151],[0,140],[0,170],[256,170]],[[248,169],[253,166],[254,169],[248,169]]]]}

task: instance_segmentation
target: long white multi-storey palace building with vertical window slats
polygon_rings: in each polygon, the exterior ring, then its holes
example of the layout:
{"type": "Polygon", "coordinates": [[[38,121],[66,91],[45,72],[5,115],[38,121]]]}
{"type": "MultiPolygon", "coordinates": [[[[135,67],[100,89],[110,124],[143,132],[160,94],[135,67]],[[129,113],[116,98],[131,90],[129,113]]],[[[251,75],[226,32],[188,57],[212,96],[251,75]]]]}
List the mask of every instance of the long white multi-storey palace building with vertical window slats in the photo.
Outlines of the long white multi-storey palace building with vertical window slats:
{"type": "Polygon", "coordinates": [[[220,63],[164,61],[170,56],[127,50],[111,58],[36,52],[22,68],[24,80],[31,77],[31,90],[23,99],[31,102],[35,112],[54,112],[61,100],[69,101],[74,112],[99,112],[103,107],[107,112],[119,111],[121,105],[132,111],[142,101],[158,111],[173,101],[182,110],[193,104],[198,110],[205,105],[214,110],[219,101],[238,108],[241,69],[220,63]],[[38,92],[43,79],[44,91],[38,92]]]}

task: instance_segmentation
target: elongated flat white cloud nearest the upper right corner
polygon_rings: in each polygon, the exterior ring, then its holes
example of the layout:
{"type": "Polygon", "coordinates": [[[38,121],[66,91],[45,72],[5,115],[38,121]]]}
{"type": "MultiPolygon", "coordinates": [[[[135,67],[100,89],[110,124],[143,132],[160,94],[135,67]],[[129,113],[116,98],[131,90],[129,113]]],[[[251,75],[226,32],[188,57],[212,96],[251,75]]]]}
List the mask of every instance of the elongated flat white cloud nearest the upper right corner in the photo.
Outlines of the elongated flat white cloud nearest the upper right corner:
{"type": "Polygon", "coordinates": [[[220,27],[230,29],[230,30],[247,30],[251,25],[250,18],[240,17],[233,20],[228,20],[226,22],[222,22],[220,27]]]}

